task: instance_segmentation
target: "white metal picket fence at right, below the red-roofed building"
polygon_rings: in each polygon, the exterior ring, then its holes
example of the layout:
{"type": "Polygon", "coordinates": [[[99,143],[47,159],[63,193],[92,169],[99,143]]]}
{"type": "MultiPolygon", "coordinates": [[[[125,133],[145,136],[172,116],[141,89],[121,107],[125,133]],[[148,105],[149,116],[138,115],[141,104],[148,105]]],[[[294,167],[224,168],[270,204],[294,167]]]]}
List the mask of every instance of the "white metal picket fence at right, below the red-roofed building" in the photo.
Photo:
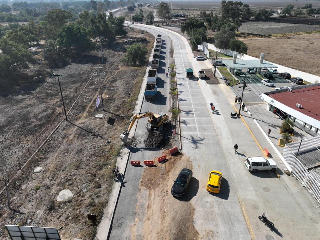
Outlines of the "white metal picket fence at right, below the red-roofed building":
{"type": "Polygon", "coordinates": [[[292,142],[286,144],[283,151],[283,158],[287,164],[291,167],[292,175],[307,188],[310,194],[320,203],[320,173],[311,170],[308,171],[308,167],[297,159],[296,154],[299,151],[307,151],[315,149],[320,151],[320,136],[305,138],[298,142],[292,142]]]}

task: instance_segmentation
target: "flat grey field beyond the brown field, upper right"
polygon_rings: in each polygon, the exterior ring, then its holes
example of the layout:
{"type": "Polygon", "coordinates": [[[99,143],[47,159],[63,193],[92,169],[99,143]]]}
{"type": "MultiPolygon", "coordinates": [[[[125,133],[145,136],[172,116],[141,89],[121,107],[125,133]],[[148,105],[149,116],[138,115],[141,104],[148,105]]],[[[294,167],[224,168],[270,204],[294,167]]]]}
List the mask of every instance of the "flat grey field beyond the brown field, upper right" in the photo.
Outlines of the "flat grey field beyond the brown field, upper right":
{"type": "Polygon", "coordinates": [[[252,34],[279,34],[279,33],[298,33],[308,31],[319,31],[319,25],[290,24],[277,22],[243,22],[240,32],[252,34]]]}

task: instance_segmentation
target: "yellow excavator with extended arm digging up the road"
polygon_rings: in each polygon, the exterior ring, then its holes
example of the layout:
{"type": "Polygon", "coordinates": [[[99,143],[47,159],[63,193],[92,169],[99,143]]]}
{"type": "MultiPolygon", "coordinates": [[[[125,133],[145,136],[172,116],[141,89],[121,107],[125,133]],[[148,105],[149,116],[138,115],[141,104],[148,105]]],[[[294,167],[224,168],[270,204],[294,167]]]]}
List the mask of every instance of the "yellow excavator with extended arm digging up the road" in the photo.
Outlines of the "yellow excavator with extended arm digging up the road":
{"type": "MultiPolygon", "coordinates": [[[[120,139],[127,144],[128,143],[128,137],[129,137],[129,132],[131,128],[133,127],[134,122],[137,119],[144,118],[144,117],[149,117],[148,119],[148,126],[147,130],[150,132],[151,130],[160,130],[163,124],[167,123],[169,121],[169,116],[168,114],[165,114],[163,112],[157,112],[157,113],[152,113],[152,112],[146,112],[146,113],[136,113],[135,115],[132,116],[131,121],[127,127],[126,130],[120,135],[120,139]]],[[[161,131],[161,130],[160,130],[161,131]]]]}

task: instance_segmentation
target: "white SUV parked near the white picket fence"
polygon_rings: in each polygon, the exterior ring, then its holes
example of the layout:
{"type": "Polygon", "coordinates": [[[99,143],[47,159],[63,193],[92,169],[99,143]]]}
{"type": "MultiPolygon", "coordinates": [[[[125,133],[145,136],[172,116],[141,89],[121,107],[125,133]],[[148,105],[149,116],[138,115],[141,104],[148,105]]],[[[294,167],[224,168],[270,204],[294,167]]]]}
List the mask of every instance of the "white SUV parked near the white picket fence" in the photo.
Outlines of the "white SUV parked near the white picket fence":
{"type": "Polygon", "coordinates": [[[272,159],[265,159],[264,157],[248,157],[244,165],[249,171],[258,172],[268,170],[271,172],[276,172],[277,164],[272,159]]]}

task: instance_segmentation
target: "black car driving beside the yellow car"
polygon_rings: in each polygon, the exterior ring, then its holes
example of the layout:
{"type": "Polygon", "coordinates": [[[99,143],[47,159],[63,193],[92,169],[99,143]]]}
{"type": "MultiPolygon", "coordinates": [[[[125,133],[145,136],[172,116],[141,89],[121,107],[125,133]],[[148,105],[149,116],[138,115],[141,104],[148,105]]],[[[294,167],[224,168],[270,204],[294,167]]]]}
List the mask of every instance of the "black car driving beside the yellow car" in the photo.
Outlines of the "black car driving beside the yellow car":
{"type": "Polygon", "coordinates": [[[192,171],[188,168],[183,168],[172,185],[172,195],[176,197],[183,197],[186,193],[191,178],[192,171]]]}

